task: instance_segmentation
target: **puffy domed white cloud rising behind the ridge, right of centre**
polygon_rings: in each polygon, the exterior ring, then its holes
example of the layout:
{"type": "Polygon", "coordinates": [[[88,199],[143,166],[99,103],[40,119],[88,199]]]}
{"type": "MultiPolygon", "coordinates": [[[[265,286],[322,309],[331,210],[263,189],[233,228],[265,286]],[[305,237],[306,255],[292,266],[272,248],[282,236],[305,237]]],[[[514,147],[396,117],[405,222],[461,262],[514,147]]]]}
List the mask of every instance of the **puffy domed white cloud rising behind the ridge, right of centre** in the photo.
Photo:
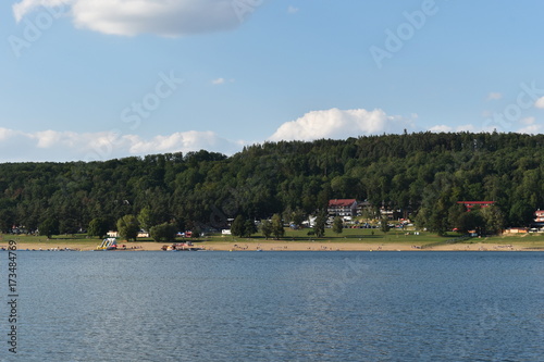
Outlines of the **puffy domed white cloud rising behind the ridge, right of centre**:
{"type": "Polygon", "coordinates": [[[331,109],[306,113],[296,121],[284,123],[270,137],[279,140],[343,139],[359,135],[403,133],[412,129],[413,122],[401,116],[391,116],[382,110],[367,111],[331,109]]]}

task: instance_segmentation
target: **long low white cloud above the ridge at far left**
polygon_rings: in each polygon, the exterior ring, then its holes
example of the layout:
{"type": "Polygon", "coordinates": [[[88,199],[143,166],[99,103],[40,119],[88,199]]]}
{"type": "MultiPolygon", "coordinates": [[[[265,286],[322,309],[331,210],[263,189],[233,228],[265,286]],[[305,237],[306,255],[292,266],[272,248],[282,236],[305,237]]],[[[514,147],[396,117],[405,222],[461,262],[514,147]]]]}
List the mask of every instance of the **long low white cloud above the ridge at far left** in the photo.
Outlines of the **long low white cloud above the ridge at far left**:
{"type": "Polygon", "coordinates": [[[181,132],[145,139],[115,130],[74,133],[41,130],[24,133],[0,128],[0,162],[20,161],[104,161],[152,153],[208,151],[232,154],[244,141],[232,141],[213,132],[181,132]]]}

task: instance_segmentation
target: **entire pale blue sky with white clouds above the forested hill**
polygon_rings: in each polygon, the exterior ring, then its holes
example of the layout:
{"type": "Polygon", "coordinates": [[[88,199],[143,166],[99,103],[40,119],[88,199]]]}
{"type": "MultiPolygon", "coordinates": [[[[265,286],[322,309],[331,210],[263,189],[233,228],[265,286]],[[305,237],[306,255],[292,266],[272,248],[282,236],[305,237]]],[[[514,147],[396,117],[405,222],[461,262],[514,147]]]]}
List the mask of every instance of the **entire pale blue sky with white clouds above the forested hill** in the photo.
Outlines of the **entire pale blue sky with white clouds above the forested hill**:
{"type": "Polygon", "coordinates": [[[0,4],[0,162],[544,125],[544,4],[0,4]]]}

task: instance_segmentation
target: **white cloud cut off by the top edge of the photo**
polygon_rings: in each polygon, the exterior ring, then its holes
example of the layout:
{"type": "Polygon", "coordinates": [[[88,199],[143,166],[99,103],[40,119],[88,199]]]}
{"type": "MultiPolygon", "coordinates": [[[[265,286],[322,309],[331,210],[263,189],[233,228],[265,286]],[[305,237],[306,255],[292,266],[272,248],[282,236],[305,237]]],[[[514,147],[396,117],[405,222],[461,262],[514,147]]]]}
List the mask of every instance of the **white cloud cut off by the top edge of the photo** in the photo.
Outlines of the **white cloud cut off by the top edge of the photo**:
{"type": "Polygon", "coordinates": [[[65,8],[77,27],[133,36],[176,37],[233,29],[262,0],[22,0],[13,5],[15,18],[39,7],[65,8]]]}

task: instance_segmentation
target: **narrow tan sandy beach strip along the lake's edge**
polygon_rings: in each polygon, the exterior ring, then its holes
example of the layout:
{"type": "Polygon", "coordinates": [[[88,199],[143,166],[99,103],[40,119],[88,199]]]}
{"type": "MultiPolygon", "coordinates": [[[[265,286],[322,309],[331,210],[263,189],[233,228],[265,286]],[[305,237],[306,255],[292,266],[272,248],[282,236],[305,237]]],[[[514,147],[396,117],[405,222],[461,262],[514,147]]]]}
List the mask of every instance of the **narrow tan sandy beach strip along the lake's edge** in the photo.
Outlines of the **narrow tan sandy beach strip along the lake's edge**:
{"type": "MultiPolygon", "coordinates": [[[[7,248],[7,245],[0,247],[7,248]]],[[[121,242],[120,245],[123,245],[121,242]]],[[[118,251],[161,251],[168,242],[131,241],[124,242],[126,250],[118,251]]],[[[44,242],[17,241],[17,250],[75,250],[94,251],[98,246],[90,242],[71,242],[66,240],[49,240],[44,242]]],[[[205,251],[544,251],[539,247],[526,245],[474,242],[449,244],[425,247],[425,245],[408,245],[406,242],[342,242],[342,241],[199,241],[194,247],[205,251]]]]}

